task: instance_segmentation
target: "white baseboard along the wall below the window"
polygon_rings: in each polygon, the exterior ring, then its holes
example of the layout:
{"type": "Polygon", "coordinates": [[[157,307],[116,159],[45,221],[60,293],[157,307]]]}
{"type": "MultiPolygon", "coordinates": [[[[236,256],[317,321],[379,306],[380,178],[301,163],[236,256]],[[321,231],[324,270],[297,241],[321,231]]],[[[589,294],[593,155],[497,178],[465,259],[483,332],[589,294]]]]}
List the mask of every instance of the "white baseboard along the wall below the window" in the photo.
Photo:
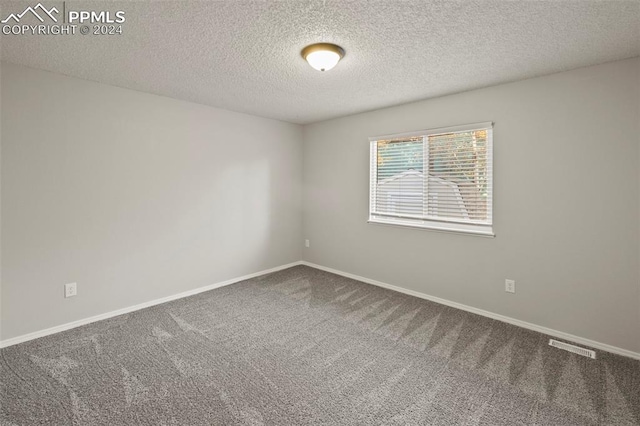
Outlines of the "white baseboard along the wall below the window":
{"type": "Polygon", "coordinates": [[[594,340],[585,339],[583,337],[574,336],[569,333],[565,333],[558,330],[553,330],[551,328],[542,327],[536,324],[532,324],[526,321],[520,321],[515,318],[507,317],[504,315],[496,314],[493,312],[485,311],[483,309],[474,308],[472,306],[463,305],[462,303],[452,302],[450,300],[441,299],[439,297],[430,296],[428,294],[420,293],[418,291],[409,290],[406,288],[398,287],[392,284],[383,283],[381,281],[372,280],[371,278],[361,277],[359,275],[350,274],[348,272],[339,271],[333,268],[327,268],[326,266],[316,265],[315,263],[302,261],[300,262],[302,265],[310,266],[312,268],[321,269],[323,271],[331,272],[336,275],[342,275],[343,277],[352,278],[357,281],[362,281],[367,284],[373,284],[378,287],[383,287],[389,290],[397,291],[400,293],[408,294],[410,296],[419,297],[421,299],[430,300],[432,302],[440,303],[441,305],[451,306],[452,308],[460,309],[463,311],[471,312],[474,314],[482,315],[483,317],[492,318],[498,321],[506,322],[509,324],[516,325],[518,327],[526,328],[529,330],[537,331],[539,333],[547,334],[549,336],[557,337],[559,339],[568,340],[570,342],[577,343],[579,345],[589,346],[594,349],[600,349],[606,352],[610,352],[617,355],[626,356],[629,358],[640,360],[640,353],[633,352],[627,349],[618,348],[616,346],[607,345],[606,343],[596,342],[594,340]]]}

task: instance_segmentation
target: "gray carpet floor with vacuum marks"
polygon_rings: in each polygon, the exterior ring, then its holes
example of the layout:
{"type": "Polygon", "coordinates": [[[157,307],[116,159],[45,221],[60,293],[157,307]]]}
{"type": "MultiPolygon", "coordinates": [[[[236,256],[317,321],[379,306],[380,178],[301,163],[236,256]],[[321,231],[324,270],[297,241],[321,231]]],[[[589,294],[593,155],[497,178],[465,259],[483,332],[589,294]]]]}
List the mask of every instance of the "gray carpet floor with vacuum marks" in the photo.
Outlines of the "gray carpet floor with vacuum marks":
{"type": "Polygon", "coordinates": [[[4,425],[639,425],[640,361],[306,266],[2,349],[4,425]]]}

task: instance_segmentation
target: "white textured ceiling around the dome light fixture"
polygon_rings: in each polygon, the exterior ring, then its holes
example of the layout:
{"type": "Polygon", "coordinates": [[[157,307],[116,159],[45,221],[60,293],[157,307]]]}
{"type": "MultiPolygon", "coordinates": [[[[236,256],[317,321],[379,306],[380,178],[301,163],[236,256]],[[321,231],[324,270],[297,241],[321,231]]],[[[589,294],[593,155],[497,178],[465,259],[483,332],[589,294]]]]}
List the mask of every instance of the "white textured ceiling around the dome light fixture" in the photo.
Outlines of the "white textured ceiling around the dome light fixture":
{"type": "MultiPolygon", "coordinates": [[[[35,4],[3,1],[0,14],[35,4]]],[[[2,35],[2,59],[294,123],[640,55],[637,0],[66,1],[65,7],[124,10],[123,34],[2,35]],[[326,73],[300,57],[305,45],[319,41],[347,52],[326,73]]]]}

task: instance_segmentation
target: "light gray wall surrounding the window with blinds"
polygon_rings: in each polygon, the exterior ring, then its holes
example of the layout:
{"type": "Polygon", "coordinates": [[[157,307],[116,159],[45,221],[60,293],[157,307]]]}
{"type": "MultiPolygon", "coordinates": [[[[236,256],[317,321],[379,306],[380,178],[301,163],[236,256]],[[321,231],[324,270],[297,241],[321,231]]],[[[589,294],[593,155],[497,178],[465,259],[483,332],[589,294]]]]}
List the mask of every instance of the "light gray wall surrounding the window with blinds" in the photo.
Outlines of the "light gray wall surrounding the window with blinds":
{"type": "Polygon", "coordinates": [[[303,258],[640,352],[639,76],[636,58],[305,126],[303,258]],[[369,136],[481,121],[495,239],[367,224],[369,136]]]}

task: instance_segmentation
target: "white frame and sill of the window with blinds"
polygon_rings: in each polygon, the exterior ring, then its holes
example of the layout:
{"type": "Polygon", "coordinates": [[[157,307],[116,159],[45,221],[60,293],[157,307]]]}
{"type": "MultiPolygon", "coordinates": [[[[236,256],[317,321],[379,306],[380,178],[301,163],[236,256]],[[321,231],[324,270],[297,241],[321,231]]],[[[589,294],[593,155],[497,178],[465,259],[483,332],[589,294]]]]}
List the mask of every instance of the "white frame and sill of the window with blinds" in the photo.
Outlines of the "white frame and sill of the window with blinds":
{"type": "MultiPolygon", "coordinates": [[[[494,205],[494,191],[493,191],[493,174],[494,174],[494,164],[493,164],[493,122],[480,122],[480,123],[472,123],[465,124],[460,126],[449,126],[449,127],[438,127],[427,130],[419,130],[414,132],[404,132],[404,133],[396,133],[391,135],[381,135],[381,136],[373,136],[369,138],[369,218],[367,223],[378,224],[378,225],[392,225],[392,226],[400,226],[403,228],[413,228],[413,229],[424,229],[431,231],[439,231],[439,232],[453,232],[460,233],[466,235],[475,235],[482,237],[495,237],[495,233],[493,230],[494,221],[493,221],[493,205],[494,205]],[[380,140],[392,140],[392,139],[401,139],[401,138],[422,138],[423,139],[423,149],[427,151],[427,154],[423,156],[423,162],[426,167],[423,167],[426,170],[426,180],[428,182],[428,139],[430,136],[436,136],[446,133],[458,133],[458,132],[470,132],[473,130],[487,130],[487,164],[488,164],[488,184],[491,189],[489,192],[489,197],[487,198],[487,213],[490,217],[490,221],[488,224],[478,224],[478,223],[470,223],[467,221],[456,221],[456,220],[438,220],[433,218],[424,218],[426,216],[423,214],[422,218],[406,218],[406,217],[394,217],[392,214],[375,214],[375,202],[377,200],[377,190],[378,184],[374,182],[374,179],[377,179],[377,142],[380,140]]],[[[428,196],[428,190],[425,190],[428,196]]],[[[428,206],[423,207],[428,209],[428,206]]]]}

